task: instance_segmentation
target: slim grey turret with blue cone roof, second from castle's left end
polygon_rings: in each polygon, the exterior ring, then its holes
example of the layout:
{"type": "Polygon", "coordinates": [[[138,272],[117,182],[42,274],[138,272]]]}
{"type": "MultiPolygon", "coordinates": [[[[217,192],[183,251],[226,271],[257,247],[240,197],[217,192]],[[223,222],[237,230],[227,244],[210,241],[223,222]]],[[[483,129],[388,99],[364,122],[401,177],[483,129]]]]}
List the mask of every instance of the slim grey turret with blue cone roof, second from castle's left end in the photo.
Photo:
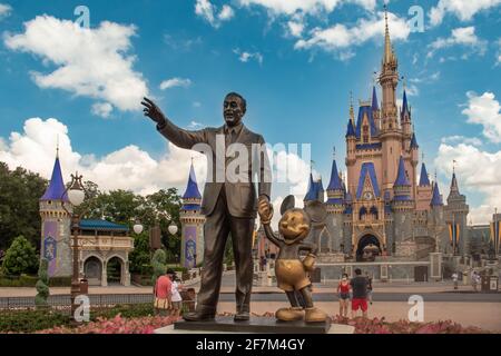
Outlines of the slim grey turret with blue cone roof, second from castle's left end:
{"type": "Polygon", "coordinates": [[[343,231],[343,220],[344,220],[344,198],[345,190],[343,187],[343,181],[337,171],[337,164],[335,157],[332,161],[331,170],[331,181],[327,186],[327,229],[331,231],[332,237],[330,249],[338,251],[341,245],[344,245],[344,231],[343,231]]]}

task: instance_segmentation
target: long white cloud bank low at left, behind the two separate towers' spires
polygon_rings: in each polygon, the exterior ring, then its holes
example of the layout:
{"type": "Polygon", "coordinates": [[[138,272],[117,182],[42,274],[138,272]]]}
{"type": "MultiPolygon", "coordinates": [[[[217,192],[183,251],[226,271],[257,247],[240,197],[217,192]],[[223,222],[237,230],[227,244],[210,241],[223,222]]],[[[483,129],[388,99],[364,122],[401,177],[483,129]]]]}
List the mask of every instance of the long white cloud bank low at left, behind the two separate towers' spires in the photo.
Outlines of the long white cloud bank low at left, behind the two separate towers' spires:
{"type": "Polygon", "coordinates": [[[168,144],[168,151],[159,159],[154,159],[134,145],[102,157],[85,156],[73,150],[67,126],[57,119],[28,119],[23,132],[12,132],[9,142],[3,147],[0,145],[0,161],[7,162],[11,169],[22,166],[50,178],[58,139],[66,181],[71,172],[78,170],[85,180],[95,181],[104,190],[130,189],[138,194],[149,194],[161,188],[177,187],[183,194],[191,157],[195,158],[200,189],[206,176],[204,156],[171,144],[168,144]]]}

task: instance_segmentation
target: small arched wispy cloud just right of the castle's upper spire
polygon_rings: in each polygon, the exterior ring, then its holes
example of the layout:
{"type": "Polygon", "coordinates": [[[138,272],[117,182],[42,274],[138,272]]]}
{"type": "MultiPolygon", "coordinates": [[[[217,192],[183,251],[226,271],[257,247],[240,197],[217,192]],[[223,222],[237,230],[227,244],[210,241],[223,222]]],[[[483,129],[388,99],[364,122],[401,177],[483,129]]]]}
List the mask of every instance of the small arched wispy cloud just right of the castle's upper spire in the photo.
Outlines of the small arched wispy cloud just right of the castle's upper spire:
{"type": "MultiPolygon", "coordinates": [[[[463,46],[471,48],[474,52],[480,55],[485,53],[487,41],[480,39],[475,34],[475,28],[473,26],[456,28],[452,30],[451,37],[449,38],[438,38],[432,43],[429,44],[430,51],[426,58],[433,57],[434,52],[439,49],[449,48],[453,46],[463,46]]],[[[468,53],[464,53],[468,58],[468,53]]]]}

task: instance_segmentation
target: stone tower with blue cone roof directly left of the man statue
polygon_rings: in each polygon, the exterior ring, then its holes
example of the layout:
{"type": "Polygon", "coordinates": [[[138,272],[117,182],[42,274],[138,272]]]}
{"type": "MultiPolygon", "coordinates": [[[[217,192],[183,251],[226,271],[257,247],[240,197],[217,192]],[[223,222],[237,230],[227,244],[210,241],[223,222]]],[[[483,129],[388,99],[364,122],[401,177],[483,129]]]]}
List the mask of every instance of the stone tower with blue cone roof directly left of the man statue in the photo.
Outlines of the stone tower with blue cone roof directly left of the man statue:
{"type": "Polygon", "coordinates": [[[193,268],[204,259],[204,222],[200,214],[202,195],[198,190],[195,169],[189,168],[186,191],[183,195],[183,206],[179,211],[181,222],[181,266],[193,268]]]}

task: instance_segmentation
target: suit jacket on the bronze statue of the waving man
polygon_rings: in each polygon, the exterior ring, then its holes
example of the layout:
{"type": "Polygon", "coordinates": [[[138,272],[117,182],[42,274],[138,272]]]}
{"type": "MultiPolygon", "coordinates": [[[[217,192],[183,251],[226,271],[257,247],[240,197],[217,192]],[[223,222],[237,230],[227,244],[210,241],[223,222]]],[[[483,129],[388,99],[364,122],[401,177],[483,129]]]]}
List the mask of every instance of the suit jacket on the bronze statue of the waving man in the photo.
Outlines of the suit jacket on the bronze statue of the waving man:
{"type": "MultiPolygon", "coordinates": [[[[226,180],[224,182],[217,182],[216,180],[216,137],[217,135],[225,135],[225,126],[219,128],[205,128],[202,130],[185,130],[175,126],[169,120],[166,120],[164,126],[157,126],[158,131],[165,136],[174,145],[185,148],[193,149],[197,144],[206,144],[210,147],[213,155],[213,169],[212,169],[212,181],[207,181],[204,189],[204,196],[202,199],[202,214],[205,216],[210,216],[216,206],[217,199],[220,194],[220,189],[224,187],[226,192],[226,201],[229,214],[237,218],[255,218],[257,212],[257,199],[256,189],[253,182],[253,175],[258,175],[258,195],[265,195],[269,198],[271,196],[271,169],[267,155],[258,152],[259,159],[257,160],[258,167],[256,167],[256,151],[253,148],[253,144],[265,145],[264,138],[248,130],[245,126],[242,127],[239,135],[233,139],[233,142],[238,142],[245,145],[248,152],[248,169],[244,172],[247,179],[243,181],[229,182],[226,180]],[[254,159],[250,159],[253,158],[254,159]],[[252,167],[254,165],[254,167],[252,167]],[[254,171],[253,171],[254,168],[254,171]]],[[[198,149],[197,149],[198,150],[198,149]]],[[[266,150],[264,150],[266,152],[266,150]]],[[[208,157],[210,158],[210,157],[208,157]]],[[[225,158],[225,165],[227,166],[230,159],[225,158]]],[[[244,169],[245,170],[245,169],[244,169]]],[[[210,174],[210,172],[208,172],[210,174]]],[[[208,177],[209,178],[209,177],[208,177]]],[[[209,179],[207,179],[209,180],[209,179]]],[[[255,180],[255,179],[254,179],[255,180]]]]}

